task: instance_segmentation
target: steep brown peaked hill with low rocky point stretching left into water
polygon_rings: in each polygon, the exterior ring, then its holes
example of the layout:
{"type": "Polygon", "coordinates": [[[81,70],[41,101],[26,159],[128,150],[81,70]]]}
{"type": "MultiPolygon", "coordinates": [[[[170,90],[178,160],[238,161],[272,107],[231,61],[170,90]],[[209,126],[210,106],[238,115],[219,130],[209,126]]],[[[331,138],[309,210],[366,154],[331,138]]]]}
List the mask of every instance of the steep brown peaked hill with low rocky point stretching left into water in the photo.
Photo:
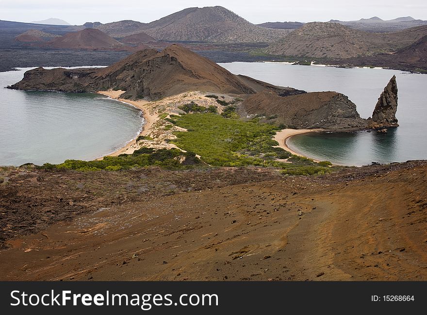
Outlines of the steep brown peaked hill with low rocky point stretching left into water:
{"type": "Polygon", "coordinates": [[[113,88],[126,91],[122,98],[127,99],[159,99],[188,91],[254,94],[265,88],[286,93],[294,90],[236,76],[179,45],[160,52],[141,50],[101,69],[36,68],[27,71],[11,88],[72,92],[113,88]]]}

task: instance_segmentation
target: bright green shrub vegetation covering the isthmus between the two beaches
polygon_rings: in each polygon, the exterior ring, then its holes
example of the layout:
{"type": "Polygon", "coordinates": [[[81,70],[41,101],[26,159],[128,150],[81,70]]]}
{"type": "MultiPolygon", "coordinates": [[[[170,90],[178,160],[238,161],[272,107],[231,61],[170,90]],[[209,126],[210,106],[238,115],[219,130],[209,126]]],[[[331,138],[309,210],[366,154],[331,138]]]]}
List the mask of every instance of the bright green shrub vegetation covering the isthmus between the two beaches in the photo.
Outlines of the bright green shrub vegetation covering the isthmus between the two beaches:
{"type": "MultiPolygon", "coordinates": [[[[281,149],[273,139],[277,126],[260,123],[259,118],[243,121],[235,105],[227,105],[218,115],[216,107],[199,106],[194,102],[182,106],[187,114],[170,115],[164,130],[178,126],[187,131],[175,131],[176,139],[168,142],[180,149],[141,148],[133,154],[107,156],[99,161],[66,160],[62,164],[46,163],[44,169],[72,169],[78,171],[120,171],[147,166],[166,169],[186,169],[205,166],[262,166],[279,168],[284,175],[321,175],[332,171],[330,162],[292,155],[281,149]],[[214,109],[214,110],[213,110],[214,109]],[[200,159],[196,155],[200,156],[200,159]],[[287,160],[287,161],[283,161],[287,160]],[[206,164],[202,163],[205,162],[206,164]]],[[[139,140],[151,140],[139,136],[139,140]]]]}

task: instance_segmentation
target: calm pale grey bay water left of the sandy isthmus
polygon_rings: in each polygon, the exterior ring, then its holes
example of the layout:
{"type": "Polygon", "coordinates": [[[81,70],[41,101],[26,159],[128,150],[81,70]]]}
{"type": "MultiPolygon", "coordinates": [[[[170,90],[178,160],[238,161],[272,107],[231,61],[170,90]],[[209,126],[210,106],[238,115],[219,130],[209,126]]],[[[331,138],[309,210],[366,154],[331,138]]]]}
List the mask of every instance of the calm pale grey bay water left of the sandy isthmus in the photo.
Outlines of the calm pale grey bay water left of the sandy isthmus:
{"type": "Polygon", "coordinates": [[[3,88],[28,69],[0,72],[0,166],[92,160],[139,134],[141,111],[105,96],[3,88]]]}

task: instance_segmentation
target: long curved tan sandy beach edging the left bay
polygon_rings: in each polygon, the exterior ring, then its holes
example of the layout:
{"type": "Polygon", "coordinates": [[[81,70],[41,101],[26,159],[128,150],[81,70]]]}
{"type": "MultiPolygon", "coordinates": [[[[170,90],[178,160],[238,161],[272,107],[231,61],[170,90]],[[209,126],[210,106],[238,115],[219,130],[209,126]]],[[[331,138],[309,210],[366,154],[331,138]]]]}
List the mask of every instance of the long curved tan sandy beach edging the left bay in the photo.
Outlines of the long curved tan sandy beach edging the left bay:
{"type": "Polygon", "coordinates": [[[108,96],[110,99],[115,99],[122,103],[138,108],[139,110],[142,111],[142,115],[144,118],[144,124],[142,125],[141,132],[134,139],[131,139],[128,143],[126,143],[126,145],[123,148],[117,149],[114,152],[109,153],[107,155],[103,155],[99,157],[97,160],[102,160],[105,156],[117,156],[123,153],[132,154],[133,151],[138,149],[136,147],[136,139],[141,135],[147,136],[151,132],[152,125],[159,119],[159,117],[157,115],[152,115],[149,113],[149,108],[147,104],[149,104],[150,102],[147,100],[121,99],[120,95],[124,93],[124,91],[108,90],[108,91],[98,91],[97,93],[108,96]]]}

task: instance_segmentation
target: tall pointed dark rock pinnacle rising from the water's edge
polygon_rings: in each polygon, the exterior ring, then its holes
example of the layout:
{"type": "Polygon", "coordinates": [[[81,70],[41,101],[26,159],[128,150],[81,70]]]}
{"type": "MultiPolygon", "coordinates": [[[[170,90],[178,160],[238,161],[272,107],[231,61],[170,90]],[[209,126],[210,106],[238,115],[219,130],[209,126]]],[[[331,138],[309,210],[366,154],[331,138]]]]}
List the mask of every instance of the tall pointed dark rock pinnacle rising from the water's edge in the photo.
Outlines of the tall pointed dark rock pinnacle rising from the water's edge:
{"type": "Polygon", "coordinates": [[[369,119],[369,124],[374,129],[397,127],[396,110],[397,84],[396,76],[393,76],[381,93],[374,112],[372,113],[372,118],[369,119]]]}

